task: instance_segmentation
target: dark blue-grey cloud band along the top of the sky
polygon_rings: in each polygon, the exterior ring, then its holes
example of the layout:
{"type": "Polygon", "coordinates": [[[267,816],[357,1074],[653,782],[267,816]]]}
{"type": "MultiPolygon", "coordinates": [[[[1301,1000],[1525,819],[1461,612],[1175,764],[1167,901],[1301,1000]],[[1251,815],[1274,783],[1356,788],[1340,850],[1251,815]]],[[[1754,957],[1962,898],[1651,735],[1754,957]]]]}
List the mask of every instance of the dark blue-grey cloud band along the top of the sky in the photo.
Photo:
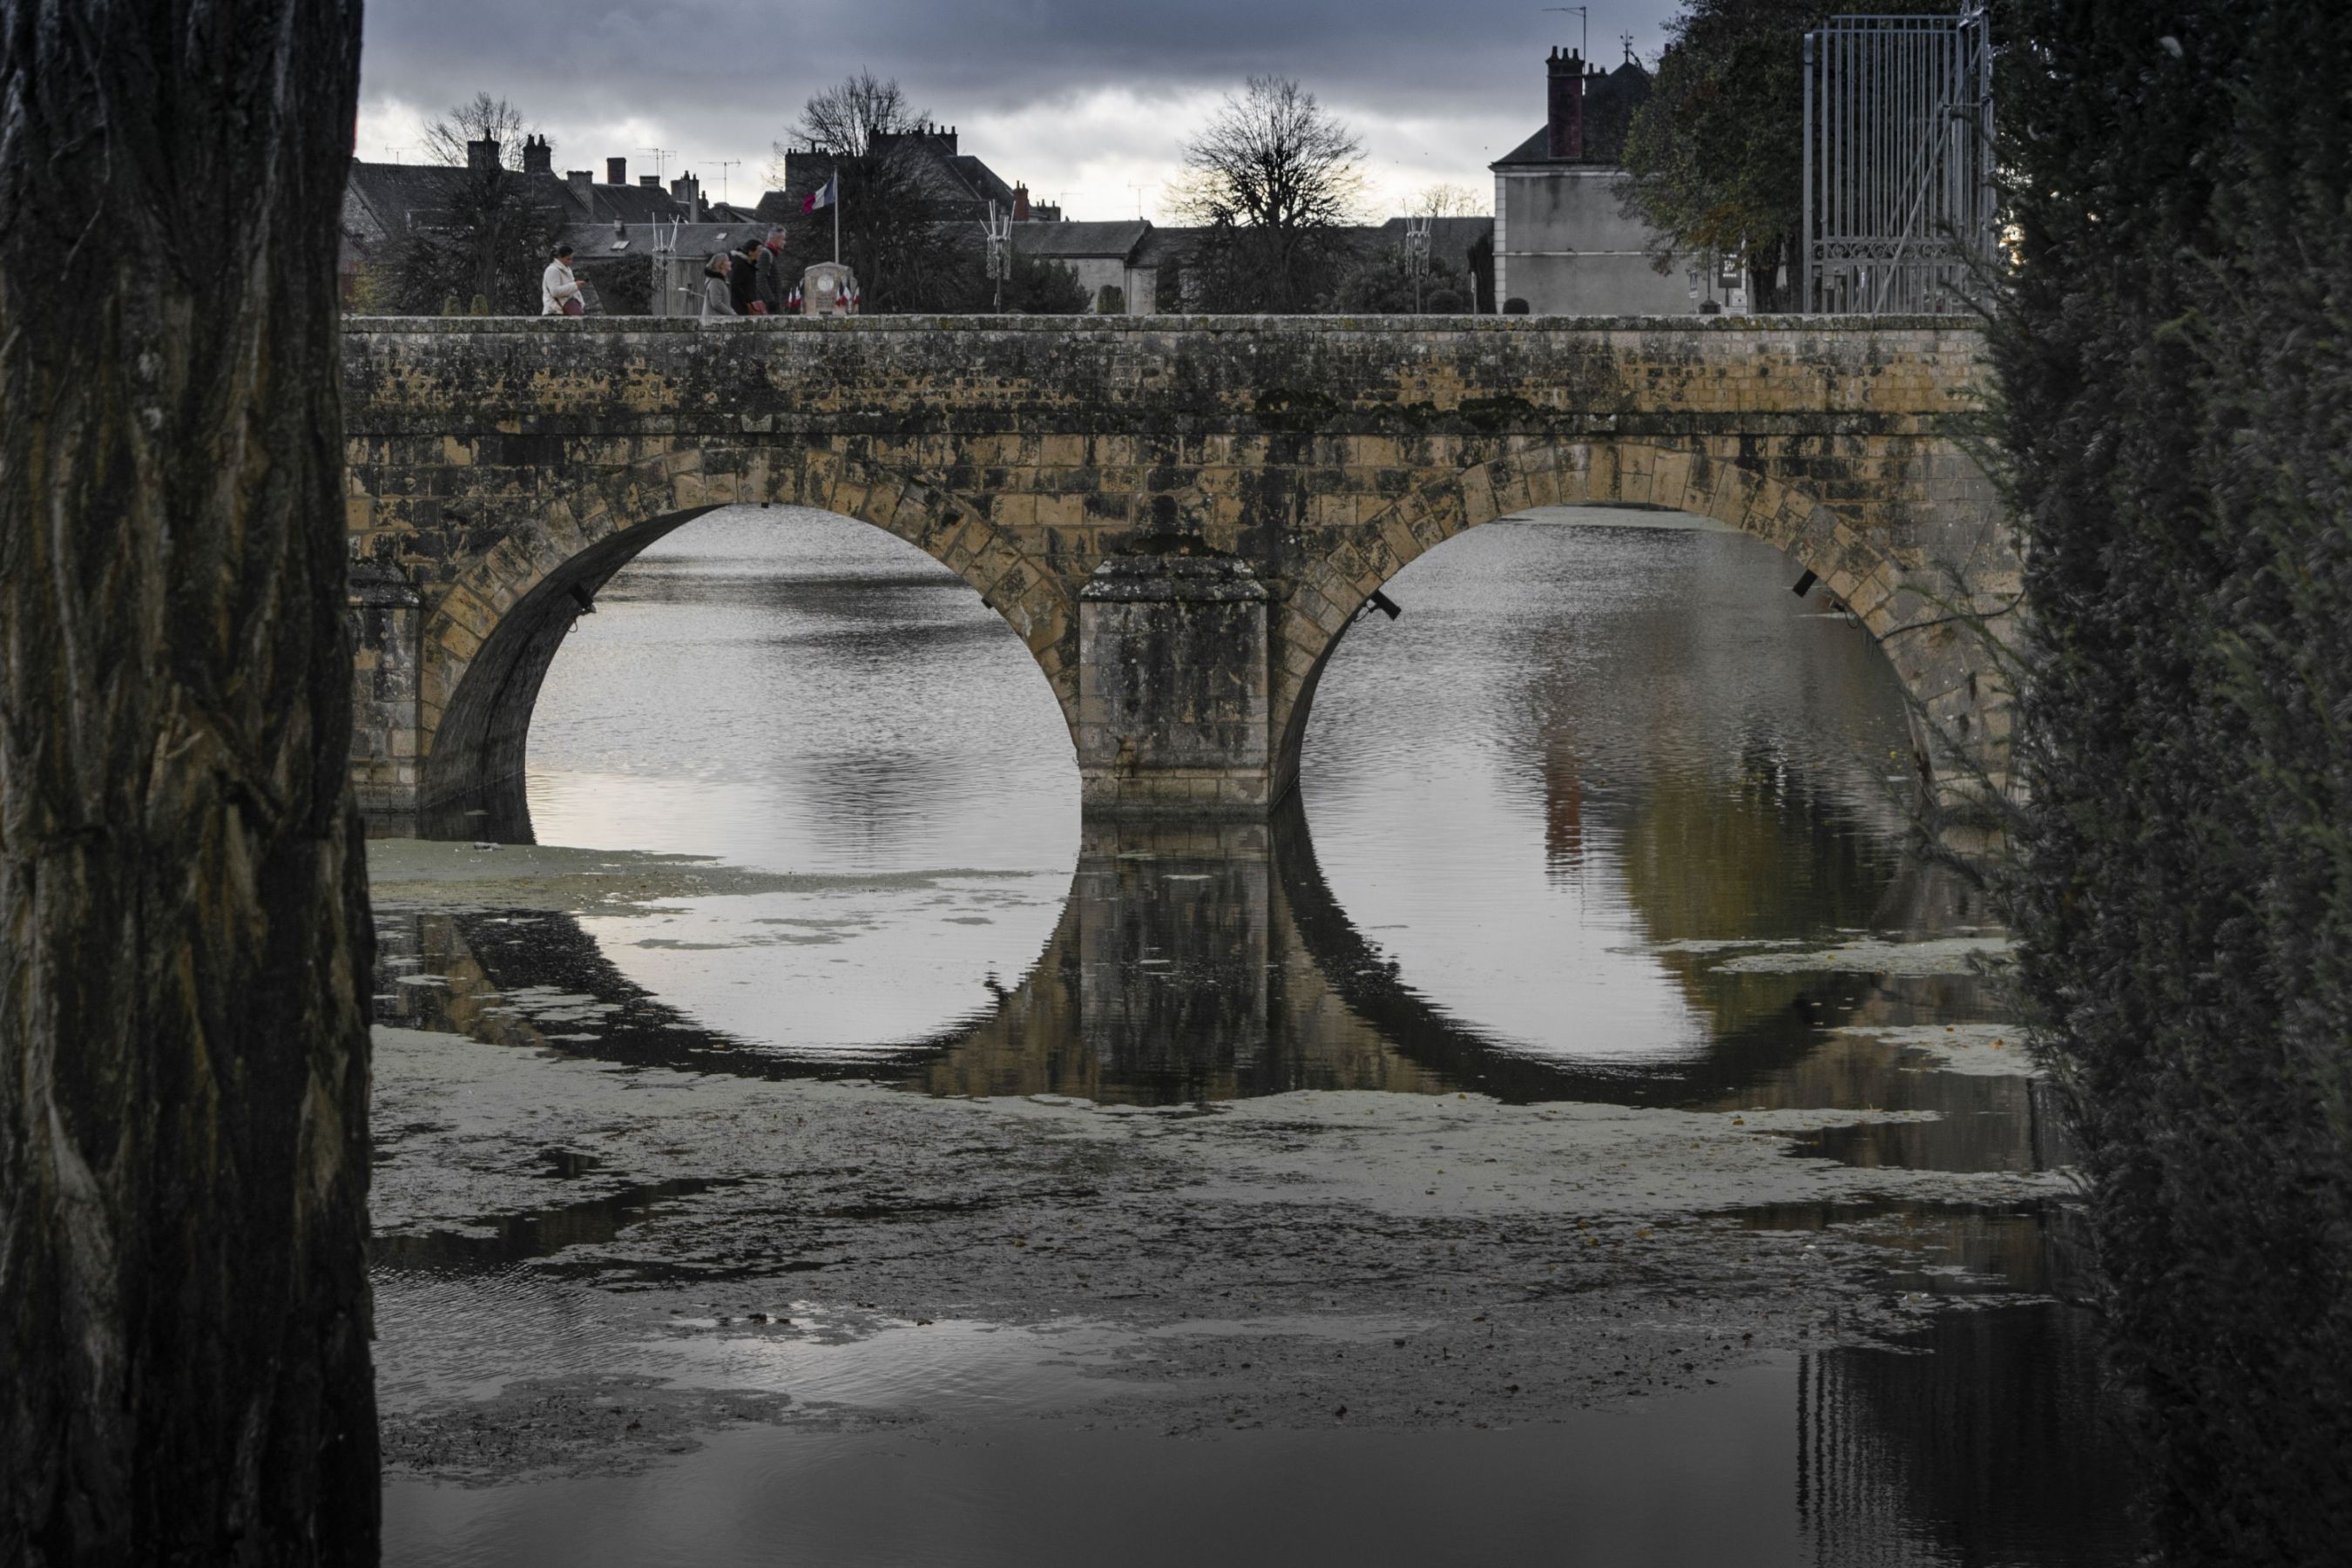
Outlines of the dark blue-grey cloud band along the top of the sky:
{"type": "MultiPolygon", "coordinates": [[[[1595,56],[1616,61],[1621,31],[1653,54],[1670,9],[1672,0],[1595,5],[1595,56]]],[[[383,0],[367,14],[362,71],[372,99],[426,110],[487,89],[541,120],[644,115],[764,150],[809,92],[856,68],[898,78],[948,122],[1094,89],[1174,96],[1254,71],[1296,75],[1374,118],[1491,113],[1498,92],[1541,118],[1541,52],[1576,38],[1576,16],[1491,0],[383,0]]]]}

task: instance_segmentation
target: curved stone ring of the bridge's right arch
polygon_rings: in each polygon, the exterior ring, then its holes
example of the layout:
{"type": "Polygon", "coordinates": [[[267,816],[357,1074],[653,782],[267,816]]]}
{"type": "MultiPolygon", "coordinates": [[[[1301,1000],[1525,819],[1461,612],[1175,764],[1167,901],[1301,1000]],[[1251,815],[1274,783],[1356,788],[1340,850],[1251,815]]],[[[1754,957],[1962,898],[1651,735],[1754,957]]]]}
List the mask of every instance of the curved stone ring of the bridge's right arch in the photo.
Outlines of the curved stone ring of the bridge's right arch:
{"type": "Polygon", "coordinates": [[[1762,538],[1818,576],[1903,682],[1924,783],[1952,783],[1955,748],[1980,750],[2006,738],[2006,691],[1985,679],[1983,649],[1955,614],[1962,607],[1997,611],[1969,588],[1978,562],[1896,550],[1884,534],[1846,522],[1806,484],[1715,456],[1703,444],[1529,437],[1458,470],[1428,473],[1301,569],[1275,628],[1279,658],[1268,703],[1282,785],[1298,776],[1315,686],[1383,583],[1468,529],[1529,508],[1590,503],[1639,503],[1710,517],[1762,538]]]}

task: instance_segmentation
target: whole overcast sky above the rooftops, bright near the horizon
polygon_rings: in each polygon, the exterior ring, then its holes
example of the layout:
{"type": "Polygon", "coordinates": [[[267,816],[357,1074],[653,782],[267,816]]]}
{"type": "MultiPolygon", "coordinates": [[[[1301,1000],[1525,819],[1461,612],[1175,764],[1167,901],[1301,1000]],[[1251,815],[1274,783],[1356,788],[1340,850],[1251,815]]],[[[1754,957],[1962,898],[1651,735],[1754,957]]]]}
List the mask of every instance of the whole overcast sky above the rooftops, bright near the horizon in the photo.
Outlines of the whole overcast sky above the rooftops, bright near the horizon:
{"type": "MultiPolygon", "coordinates": [[[[1592,5],[1592,56],[1623,33],[1656,63],[1677,0],[1592,5]]],[[[1369,205],[1423,186],[1494,197],[1486,165],[1543,125],[1543,56],[1581,21],[1496,0],[374,0],[360,63],[367,160],[421,158],[421,129],[475,92],[513,99],[557,169],[628,158],[736,200],[807,96],[858,68],[896,78],[960,150],[1056,195],[1073,219],[1164,221],[1185,136],[1244,75],[1296,75],[1364,139],[1369,205]]]]}

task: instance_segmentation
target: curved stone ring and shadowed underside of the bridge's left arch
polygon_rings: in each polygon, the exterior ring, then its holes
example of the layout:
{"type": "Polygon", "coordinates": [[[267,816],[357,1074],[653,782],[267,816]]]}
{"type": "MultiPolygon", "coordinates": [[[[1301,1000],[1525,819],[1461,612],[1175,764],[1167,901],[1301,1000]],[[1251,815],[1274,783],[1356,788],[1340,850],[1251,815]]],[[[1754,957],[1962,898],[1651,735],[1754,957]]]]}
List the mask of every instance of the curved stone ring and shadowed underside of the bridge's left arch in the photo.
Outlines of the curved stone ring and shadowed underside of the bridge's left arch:
{"type": "MultiPolygon", "coordinates": [[[[419,806],[492,799],[520,788],[532,708],[572,623],[654,541],[724,505],[807,505],[873,524],[978,590],[1014,628],[1075,726],[1075,611],[1068,590],[1018,541],[948,487],[809,451],[713,442],[635,442],[623,470],[581,463],[569,491],[539,494],[501,527],[419,628],[419,806]],[[652,449],[647,449],[652,447],[652,449]]],[[[506,802],[510,809],[513,802],[506,802]]]]}

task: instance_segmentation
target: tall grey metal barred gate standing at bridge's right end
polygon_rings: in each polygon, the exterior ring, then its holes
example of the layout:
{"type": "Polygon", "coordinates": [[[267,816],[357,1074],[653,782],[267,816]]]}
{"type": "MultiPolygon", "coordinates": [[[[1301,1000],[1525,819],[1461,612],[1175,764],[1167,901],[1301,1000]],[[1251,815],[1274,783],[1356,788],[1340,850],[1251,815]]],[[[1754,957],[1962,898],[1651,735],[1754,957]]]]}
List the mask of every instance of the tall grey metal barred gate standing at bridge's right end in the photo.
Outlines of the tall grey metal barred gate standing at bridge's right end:
{"type": "Polygon", "coordinates": [[[1832,16],[1804,35],[1799,310],[1933,313],[1994,266],[1992,28],[1832,16]]]}

